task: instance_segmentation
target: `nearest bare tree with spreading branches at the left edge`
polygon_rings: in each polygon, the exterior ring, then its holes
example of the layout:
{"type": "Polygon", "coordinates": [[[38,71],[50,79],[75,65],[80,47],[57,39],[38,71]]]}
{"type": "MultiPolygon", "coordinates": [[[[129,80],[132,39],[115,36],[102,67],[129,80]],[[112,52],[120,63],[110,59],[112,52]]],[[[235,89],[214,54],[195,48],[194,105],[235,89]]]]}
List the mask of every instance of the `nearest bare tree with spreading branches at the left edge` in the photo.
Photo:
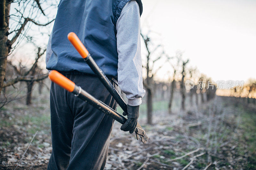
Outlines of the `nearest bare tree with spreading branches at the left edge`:
{"type": "MultiPolygon", "coordinates": [[[[42,0],[41,0],[42,1],[42,0]]],[[[32,37],[25,36],[26,29],[29,28],[29,23],[37,26],[47,26],[51,21],[41,24],[35,19],[40,14],[45,16],[45,13],[41,7],[41,1],[39,0],[1,0],[0,1],[0,94],[4,87],[4,76],[6,71],[7,56],[15,49],[20,43],[22,38],[26,37],[32,41],[32,37]],[[16,12],[10,13],[10,7],[12,4],[16,4],[18,8],[15,8],[16,12]],[[40,12],[38,12],[40,11],[40,12]],[[9,20],[14,20],[14,25],[10,31],[9,20]],[[8,39],[8,35],[12,36],[8,39]]],[[[44,0],[45,4],[47,3],[44,0]]],[[[46,17],[47,18],[47,17],[46,17]]],[[[9,81],[10,83],[10,81],[9,81]]],[[[5,84],[6,86],[6,84],[5,84]]]]}

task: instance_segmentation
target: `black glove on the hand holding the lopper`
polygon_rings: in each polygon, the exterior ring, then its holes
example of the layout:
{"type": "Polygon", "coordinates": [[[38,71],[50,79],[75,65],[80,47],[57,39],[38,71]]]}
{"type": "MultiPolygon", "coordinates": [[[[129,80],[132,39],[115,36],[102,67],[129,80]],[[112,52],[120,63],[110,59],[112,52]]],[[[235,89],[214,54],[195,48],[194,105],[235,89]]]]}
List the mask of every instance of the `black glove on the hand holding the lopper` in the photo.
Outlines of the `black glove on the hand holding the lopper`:
{"type": "MultiPolygon", "coordinates": [[[[129,131],[130,133],[133,133],[134,129],[137,125],[137,120],[139,118],[139,106],[130,106],[127,105],[127,121],[121,126],[121,130],[129,131]]],[[[125,112],[123,113],[125,116],[125,112]]]]}

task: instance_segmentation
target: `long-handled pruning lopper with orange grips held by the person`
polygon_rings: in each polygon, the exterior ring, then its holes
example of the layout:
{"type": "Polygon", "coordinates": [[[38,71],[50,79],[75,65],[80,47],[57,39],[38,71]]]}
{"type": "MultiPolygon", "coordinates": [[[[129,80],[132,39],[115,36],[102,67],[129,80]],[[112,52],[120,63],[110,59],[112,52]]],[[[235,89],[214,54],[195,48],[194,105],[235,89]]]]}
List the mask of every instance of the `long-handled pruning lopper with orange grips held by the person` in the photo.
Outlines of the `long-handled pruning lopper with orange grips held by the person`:
{"type": "MultiPolygon", "coordinates": [[[[73,46],[76,48],[78,53],[84,58],[84,61],[90,66],[92,71],[96,74],[96,76],[100,79],[102,84],[107,88],[108,92],[113,96],[113,98],[116,100],[117,104],[124,110],[124,112],[127,115],[127,105],[120,96],[120,94],[116,91],[115,87],[111,84],[107,76],[103,73],[103,71],[99,68],[99,66],[95,63],[92,56],[89,54],[87,49],[84,47],[83,43],[79,40],[79,38],[76,36],[75,33],[69,33],[68,34],[68,40],[73,44],[73,46]]],[[[97,108],[104,114],[109,115],[113,119],[115,119],[117,122],[124,124],[124,122],[127,120],[124,116],[117,113],[115,110],[113,110],[111,107],[103,103],[102,101],[94,98],[92,95],[90,95],[88,92],[83,90],[80,86],[75,85],[74,82],[60,74],[56,70],[52,70],[49,73],[49,78],[56,84],[60,85],[64,89],[68,90],[69,92],[72,92],[75,94],[76,97],[84,100],[85,102],[89,103],[93,107],[97,108]]],[[[137,140],[139,138],[141,139],[141,142],[144,144],[148,141],[148,136],[145,132],[145,130],[142,129],[139,122],[137,122],[136,128],[134,130],[136,134],[137,140]]]]}

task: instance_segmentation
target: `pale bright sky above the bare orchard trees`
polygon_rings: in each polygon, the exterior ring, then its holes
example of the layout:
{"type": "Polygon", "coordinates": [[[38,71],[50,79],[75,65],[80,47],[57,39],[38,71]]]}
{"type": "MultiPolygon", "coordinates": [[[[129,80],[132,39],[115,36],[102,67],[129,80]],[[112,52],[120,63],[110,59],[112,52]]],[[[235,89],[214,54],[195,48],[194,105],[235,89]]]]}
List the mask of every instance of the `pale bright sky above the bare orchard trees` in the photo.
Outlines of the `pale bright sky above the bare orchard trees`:
{"type": "MultiPolygon", "coordinates": [[[[142,3],[142,33],[150,31],[152,42],[163,45],[168,55],[182,50],[190,66],[196,66],[215,81],[256,78],[256,1],[143,0],[142,3]]],[[[56,11],[51,9],[51,15],[56,11]]],[[[44,32],[50,33],[52,26],[44,32]]],[[[48,37],[38,36],[38,41],[46,44],[48,37]]],[[[141,46],[145,60],[143,42],[141,46]]],[[[20,45],[19,55],[33,53],[30,45],[20,45]]],[[[170,69],[163,67],[158,77],[166,78],[165,73],[170,69]]]]}

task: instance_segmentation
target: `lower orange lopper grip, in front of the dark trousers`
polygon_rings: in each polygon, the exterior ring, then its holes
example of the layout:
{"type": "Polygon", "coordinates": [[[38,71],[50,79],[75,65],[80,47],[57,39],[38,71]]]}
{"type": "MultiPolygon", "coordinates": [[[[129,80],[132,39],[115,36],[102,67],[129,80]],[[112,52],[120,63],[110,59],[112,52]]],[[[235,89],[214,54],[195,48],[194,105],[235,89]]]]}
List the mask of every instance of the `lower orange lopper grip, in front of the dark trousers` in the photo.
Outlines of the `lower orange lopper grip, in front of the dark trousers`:
{"type": "Polygon", "coordinates": [[[60,74],[56,70],[50,71],[49,78],[54,83],[63,87],[64,89],[66,89],[69,92],[73,92],[75,89],[75,83],[73,81],[69,80],[68,78],[66,78],[65,76],[63,76],[62,74],[60,74]]]}

